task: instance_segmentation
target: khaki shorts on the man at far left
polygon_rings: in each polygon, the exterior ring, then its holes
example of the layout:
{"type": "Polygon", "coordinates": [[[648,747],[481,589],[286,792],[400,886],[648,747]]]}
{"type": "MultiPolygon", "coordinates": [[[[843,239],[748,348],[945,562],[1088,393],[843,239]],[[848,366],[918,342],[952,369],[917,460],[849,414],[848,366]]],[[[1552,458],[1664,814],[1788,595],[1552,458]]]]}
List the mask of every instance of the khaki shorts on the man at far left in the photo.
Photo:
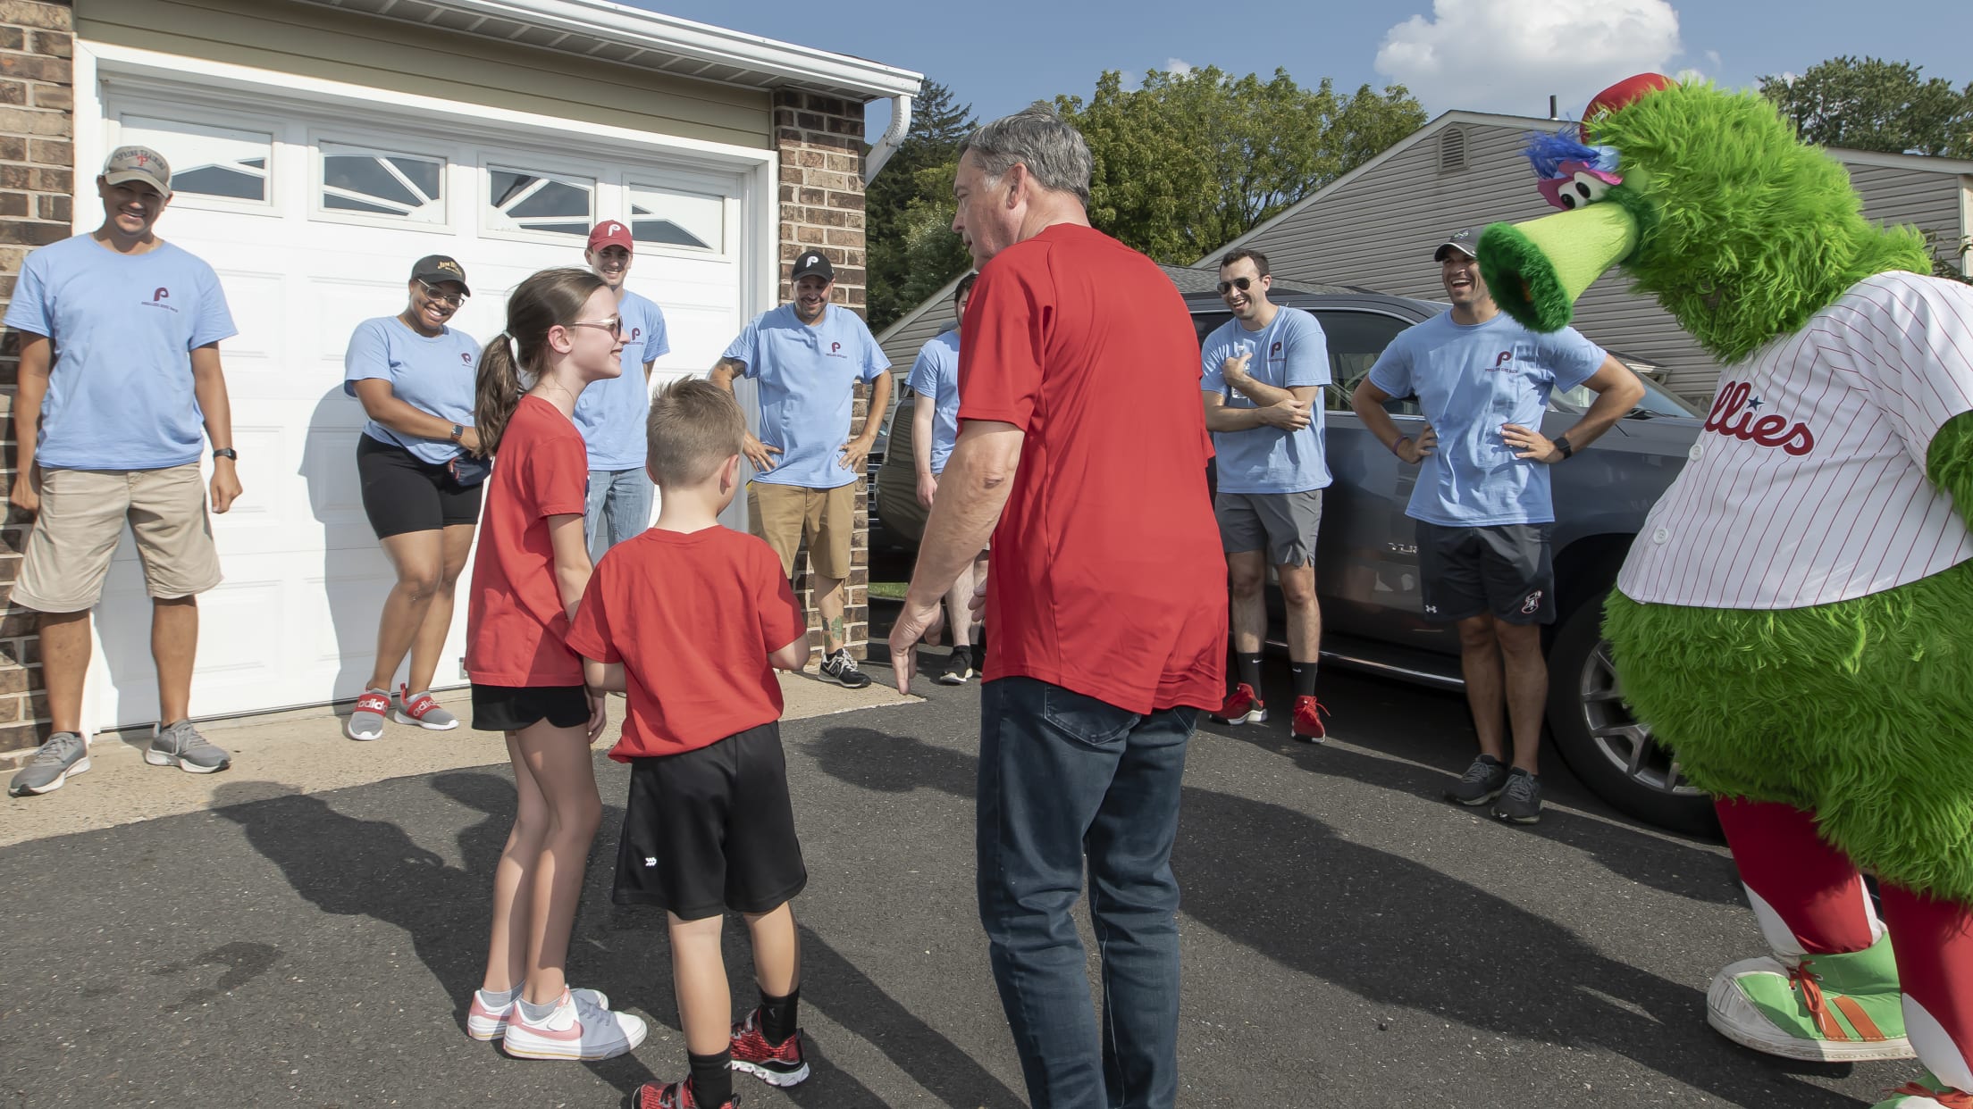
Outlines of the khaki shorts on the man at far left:
{"type": "Polygon", "coordinates": [[[150,596],[176,600],[219,584],[219,549],[197,462],[164,470],[43,470],[41,511],[28,535],[14,604],[36,612],[95,608],[124,521],[136,537],[150,596]]]}

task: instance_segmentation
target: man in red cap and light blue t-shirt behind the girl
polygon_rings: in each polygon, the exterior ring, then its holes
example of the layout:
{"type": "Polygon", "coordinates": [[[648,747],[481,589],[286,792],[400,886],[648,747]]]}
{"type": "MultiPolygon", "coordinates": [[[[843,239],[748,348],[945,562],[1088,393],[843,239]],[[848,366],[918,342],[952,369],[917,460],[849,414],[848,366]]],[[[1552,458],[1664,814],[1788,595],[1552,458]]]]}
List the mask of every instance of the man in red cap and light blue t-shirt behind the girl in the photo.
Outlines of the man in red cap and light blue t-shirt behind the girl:
{"type": "Polygon", "coordinates": [[[651,523],[651,476],[643,472],[643,420],[651,412],[651,363],[671,353],[665,314],[623,286],[635,243],[627,223],[606,219],[590,229],[582,259],[616,292],[623,324],[623,373],[592,383],[576,401],[576,428],[590,448],[590,495],[582,533],[590,558],[651,523]],[[637,373],[637,371],[643,373],[637,373]]]}

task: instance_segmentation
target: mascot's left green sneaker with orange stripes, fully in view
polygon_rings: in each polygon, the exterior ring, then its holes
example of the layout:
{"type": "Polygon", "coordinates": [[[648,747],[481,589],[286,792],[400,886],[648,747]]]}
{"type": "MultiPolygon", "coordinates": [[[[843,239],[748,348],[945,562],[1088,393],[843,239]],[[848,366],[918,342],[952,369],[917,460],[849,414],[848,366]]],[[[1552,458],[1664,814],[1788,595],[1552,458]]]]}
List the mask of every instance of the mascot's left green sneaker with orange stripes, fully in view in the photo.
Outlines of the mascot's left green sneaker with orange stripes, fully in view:
{"type": "Polygon", "coordinates": [[[1713,975],[1707,1024],[1784,1060],[1912,1058],[1890,935],[1847,955],[1803,955],[1799,967],[1742,959],[1713,975]]]}

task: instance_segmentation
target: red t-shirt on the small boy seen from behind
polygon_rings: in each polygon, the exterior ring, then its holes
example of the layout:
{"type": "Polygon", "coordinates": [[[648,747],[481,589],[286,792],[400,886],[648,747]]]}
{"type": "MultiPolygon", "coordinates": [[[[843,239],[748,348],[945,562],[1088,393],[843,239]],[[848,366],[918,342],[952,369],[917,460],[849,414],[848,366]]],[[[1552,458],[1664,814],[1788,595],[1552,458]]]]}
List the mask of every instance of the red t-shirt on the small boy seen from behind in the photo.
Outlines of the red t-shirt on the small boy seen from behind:
{"type": "Polygon", "coordinates": [[[764,541],[708,527],[625,539],[582,592],[568,645],[623,663],[629,712],[610,758],[683,754],[781,718],[767,655],[809,633],[764,541]]]}

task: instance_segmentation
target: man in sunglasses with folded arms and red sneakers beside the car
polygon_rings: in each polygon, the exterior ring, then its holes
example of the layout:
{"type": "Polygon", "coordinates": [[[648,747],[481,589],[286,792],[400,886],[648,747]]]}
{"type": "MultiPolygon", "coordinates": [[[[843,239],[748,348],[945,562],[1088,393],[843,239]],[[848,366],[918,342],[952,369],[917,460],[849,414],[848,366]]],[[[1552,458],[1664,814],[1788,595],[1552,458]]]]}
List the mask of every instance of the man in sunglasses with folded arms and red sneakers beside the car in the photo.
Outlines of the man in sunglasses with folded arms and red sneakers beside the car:
{"type": "Polygon", "coordinates": [[[1213,515],[1233,594],[1233,693],[1213,714],[1221,724],[1267,720],[1261,701],[1261,639],[1267,633],[1267,566],[1275,566],[1288,610],[1288,669],[1294,718],[1288,732],[1312,744],[1326,736],[1316,701],[1322,606],[1316,602],[1316,531],[1330,468],[1322,458],[1322,387],[1330,347],[1322,324],[1267,298],[1275,278],[1267,255],[1239,249],[1219,259],[1219,296],[1233,318],[1200,347],[1206,428],[1213,432],[1219,487],[1213,515]]]}

